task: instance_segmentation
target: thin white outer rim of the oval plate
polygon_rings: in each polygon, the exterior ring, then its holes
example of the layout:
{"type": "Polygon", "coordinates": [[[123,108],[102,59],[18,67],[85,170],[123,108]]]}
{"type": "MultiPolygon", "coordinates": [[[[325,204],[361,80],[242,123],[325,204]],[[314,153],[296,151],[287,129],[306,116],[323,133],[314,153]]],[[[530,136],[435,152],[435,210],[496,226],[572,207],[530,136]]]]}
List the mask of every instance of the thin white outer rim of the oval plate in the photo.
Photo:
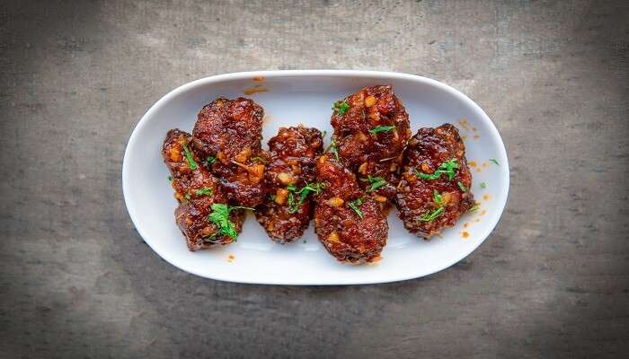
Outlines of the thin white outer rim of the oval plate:
{"type": "Polygon", "coordinates": [[[226,74],[215,74],[215,75],[199,78],[198,80],[190,81],[189,83],[184,83],[174,88],[170,92],[167,92],[166,94],[164,94],[164,96],[162,96],[158,101],[155,101],[155,103],[149,109],[146,110],[145,114],[137,122],[137,125],[133,127],[133,130],[131,131],[131,135],[128,137],[127,144],[125,145],[125,153],[122,160],[121,178],[122,178],[121,179],[122,180],[122,183],[121,183],[122,196],[124,199],[125,207],[127,208],[127,213],[129,217],[131,218],[131,222],[133,223],[133,226],[135,227],[136,231],[139,233],[140,237],[142,237],[142,240],[145,241],[145,243],[152,250],[154,250],[155,253],[157,253],[159,257],[163,258],[166,262],[170,263],[174,267],[177,267],[180,270],[184,272],[188,272],[195,276],[201,276],[204,278],[214,279],[214,280],[223,281],[223,282],[243,283],[243,284],[252,284],[252,285],[373,285],[373,284],[379,284],[379,283],[399,282],[399,281],[404,281],[404,280],[421,278],[423,276],[433,275],[435,273],[443,271],[444,269],[447,269],[448,267],[454,266],[456,263],[460,262],[461,260],[469,256],[472,252],[474,252],[474,250],[477,250],[483,244],[483,242],[487,240],[487,237],[489,237],[489,235],[493,232],[493,230],[496,228],[496,226],[501,220],[502,213],[509,200],[509,186],[510,186],[509,158],[507,156],[507,150],[504,145],[504,142],[502,141],[502,136],[498,132],[498,128],[495,126],[492,119],[489,118],[489,116],[485,113],[485,111],[475,101],[470,99],[467,95],[465,95],[465,93],[456,90],[456,88],[446,83],[441,83],[437,80],[431,79],[429,77],[421,76],[418,74],[405,74],[405,73],[398,73],[398,72],[371,71],[371,70],[260,70],[260,71],[246,71],[246,72],[236,72],[236,73],[226,73],[226,74]],[[360,280],[358,281],[357,280],[341,280],[334,283],[326,283],[326,282],[308,282],[308,281],[298,282],[298,281],[290,281],[290,280],[289,281],[286,281],[286,280],[274,281],[272,280],[272,278],[271,280],[262,282],[258,280],[234,279],[234,278],[230,278],[229,276],[221,276],[220,273],[208,274],[200,270],[180,267],[173,260],[173,258],[171,258],[170,255],[162,252],[161,250],[157,250],[156,246],[151,244],[150,241],[146,241],[146,233],[137,226],[137,217],[136,217],[135,210],[132,208],[132,206],[129,206],[129,201],[128,201],[129,189],[127,186],[128,182],[125,179],[128,178],[128,173],[129,173],[129,169],[128,169],[128,157],[130,156],[129,148],[132,147],[132,144],[136,143],[137,136],[138,136],[137,134],[141,132],[143,127],[146,127],[146,124],[149,122],[149,118],[153,116],[154,112],[156,112],[158,109],[163,107],[165,103],[170,101],[172,98],[178,96],[182,92],[187,92],[190,89],[193,89],[198,86],[204,86],[211,83],[219,83],[223,81],[252,79],[255,76],[263,76],[264,78],[273,78],[273,77],[298,77],[298,76],[313,76],[313,75],[332,76],[332,77],[380,77],[382,79],[408,80],[412,82],[426,83],[431,86],[435,86],[445,92],[449,92],[451,95],[455,96],[458,100],[464,101],[465,104],[470,106],[470,108],[474,109],[474,111],[480,115],[480,118],[483,120],[483,122],[485,122],[485,125],[487,125],[488,129],[492,133],[492,136],[495,139],[497,139],[498,143],[500,144],[499,157],[502,163],[501,167],[504,166],[504,168],[506,169],[506,171],[501,172],[501,177],[503,177],[503,180],[505,180],[506,185],[502,189],[502,191],[505,193],[505,196],[502,203],[499,204],[498,206],[498,210],[497,210],[498,215],[495,216],[495,219],[492,221],[492,223],[490,223],[490,225],[486,227],[487,230],[485,230],[485,232],[480,233],[478,235],[478,238],[481,238],[481,237],[482,238],[480,239],[480,241],[478,241],[478,243],[475,246],[471,247],[470,250],[463,252],[462,255],[457,256],[455,260],[447,261],[445,262],[444,265],[438,266],[436,267],[436,269],[431,270],[426,273],[405,271],[402,273],[402,275],[391,276],[390,278],[387,278],[386,280],[369,280],[369,276],[365,276],[365,277],[361,277],[360,280]]]}

